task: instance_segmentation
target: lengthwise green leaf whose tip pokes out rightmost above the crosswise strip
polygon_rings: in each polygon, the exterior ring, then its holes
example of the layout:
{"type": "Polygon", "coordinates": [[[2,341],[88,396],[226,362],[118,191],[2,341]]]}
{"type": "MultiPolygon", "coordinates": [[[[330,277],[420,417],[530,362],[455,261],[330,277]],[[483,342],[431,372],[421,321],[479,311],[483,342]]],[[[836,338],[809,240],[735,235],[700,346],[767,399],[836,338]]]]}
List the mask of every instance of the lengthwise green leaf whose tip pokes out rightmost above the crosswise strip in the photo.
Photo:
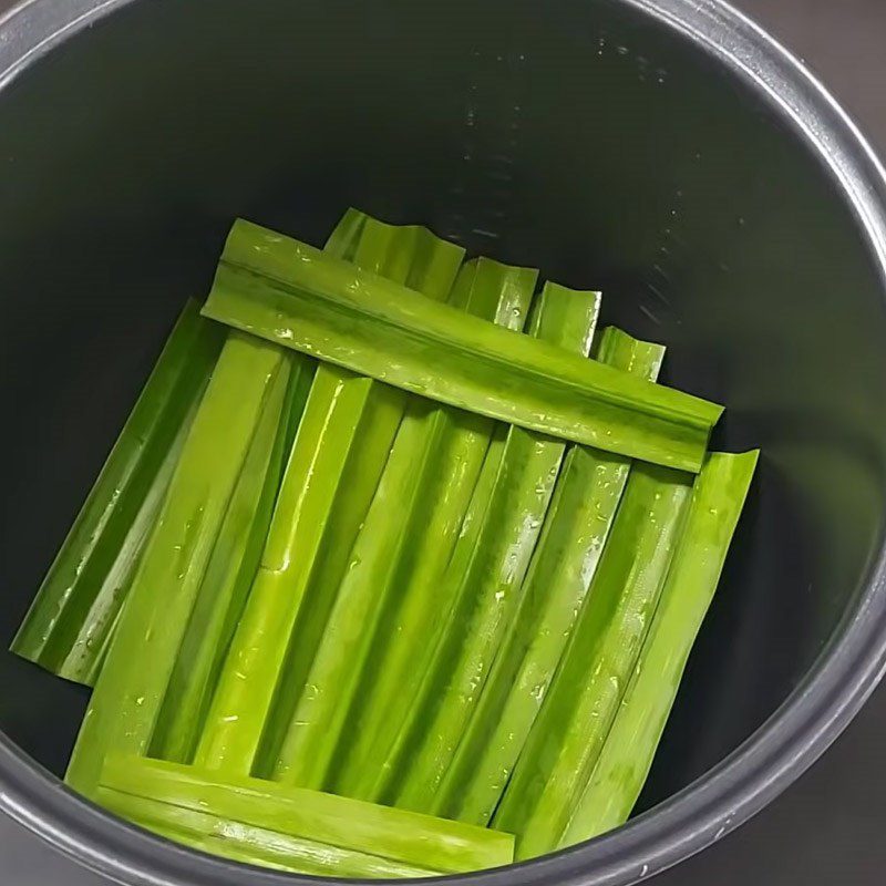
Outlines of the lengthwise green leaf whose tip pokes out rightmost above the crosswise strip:
{"type": "MultiPolygon", "coordinates": [[[[597,359],[658,378],[664,349],[609,327],[597,359]]],[[[597,571],[630,461],[585,446],[566,455],[519,609],[433,811],[487,824],[535,722],[597,571]]]]}

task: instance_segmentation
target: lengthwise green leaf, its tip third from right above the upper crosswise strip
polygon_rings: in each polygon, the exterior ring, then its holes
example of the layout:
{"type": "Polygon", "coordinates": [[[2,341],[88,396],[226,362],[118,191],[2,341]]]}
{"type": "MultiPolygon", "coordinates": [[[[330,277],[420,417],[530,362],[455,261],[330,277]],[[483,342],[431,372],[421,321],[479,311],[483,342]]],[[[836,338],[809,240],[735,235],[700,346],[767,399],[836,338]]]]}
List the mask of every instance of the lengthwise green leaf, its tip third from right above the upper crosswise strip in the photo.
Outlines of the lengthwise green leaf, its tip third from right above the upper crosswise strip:
{"type": "MultiPolygon", "coordinates": [[[[490,259],[471,261],[459,275],[452,303],[519,328],[536,277],[535,270],[490,259]]],[[[415,594],[419,604],[424,600],[432,607],[426,619],[432,628],[433,614],[446,611],[446,591],[439,579],[493,427],[484,416],[423,399],[410,404],[290,719],[277,777],[373,799],[371,780],[364,781],[359,767],[344,769],[339,759],[348,755],[363,730],[380,725],[382,711],[362,702],[380,668],[387,667],[380,661],[387,657],[389,638],[416,615],[415,594]]],[[[375,774],[379,763],[374,761],[375,774]]]]}

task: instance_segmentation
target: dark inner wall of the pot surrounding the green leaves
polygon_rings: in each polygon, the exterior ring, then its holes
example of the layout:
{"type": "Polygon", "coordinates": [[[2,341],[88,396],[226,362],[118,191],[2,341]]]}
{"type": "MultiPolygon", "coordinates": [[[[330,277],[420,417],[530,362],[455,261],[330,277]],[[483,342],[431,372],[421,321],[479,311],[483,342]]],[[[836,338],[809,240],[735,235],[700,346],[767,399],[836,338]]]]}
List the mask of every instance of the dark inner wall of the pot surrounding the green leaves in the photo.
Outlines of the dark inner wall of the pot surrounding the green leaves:
{"type": "MultiPolygon", "coordinates": [[[[237,215],[353,204],[605,290],[763,461],[642,805],[750,735],[880,535],[886,317],[800,137],[611,2],[135,2],[0,93],[0,639],[11,639],[237,215]]],[[[0,653],[0,728],[63,772],[85,694],[0,653]]]]}

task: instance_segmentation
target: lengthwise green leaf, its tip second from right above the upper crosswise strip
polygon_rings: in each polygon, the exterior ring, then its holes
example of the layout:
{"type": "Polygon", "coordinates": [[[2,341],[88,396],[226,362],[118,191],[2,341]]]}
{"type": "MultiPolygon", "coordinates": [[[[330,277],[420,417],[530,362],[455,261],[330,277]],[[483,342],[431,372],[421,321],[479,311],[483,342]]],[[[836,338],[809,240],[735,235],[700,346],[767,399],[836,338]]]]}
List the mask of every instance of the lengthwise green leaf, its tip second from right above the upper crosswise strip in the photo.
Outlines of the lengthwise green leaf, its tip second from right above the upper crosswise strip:
{"type": "MultiPolygon", "coordinates": [[[[536,302],[529,333],[587,357],[598,310],[598,293],[548,284],[536,302]]],[[[399,776],[387,797],[399,806],[439,813],[441,781],[513,618],[565,451],[560,440],[512,426],[496,456],[483,466],[492,478],[482,478],[477,486],[482,494],[471,502],[467,525],[442,579],[453,589],[454,611],[424,679],[408,694],[409,722],[400,736],[392,732],[392,740],[400,739],[396,753],[391,754],[390,744],[380,749],[388,754],[382,771],[399,776]]],[[[429,637],[419,631],[410,639],[404,673],[429,637]]],[[[396,698],[395,684],[389,693],[390,699],[375,701],[378,714],[387,713],[396,698]]],[[[378,755],[379,750],[367,753],[364,771],[378,755]]]]}

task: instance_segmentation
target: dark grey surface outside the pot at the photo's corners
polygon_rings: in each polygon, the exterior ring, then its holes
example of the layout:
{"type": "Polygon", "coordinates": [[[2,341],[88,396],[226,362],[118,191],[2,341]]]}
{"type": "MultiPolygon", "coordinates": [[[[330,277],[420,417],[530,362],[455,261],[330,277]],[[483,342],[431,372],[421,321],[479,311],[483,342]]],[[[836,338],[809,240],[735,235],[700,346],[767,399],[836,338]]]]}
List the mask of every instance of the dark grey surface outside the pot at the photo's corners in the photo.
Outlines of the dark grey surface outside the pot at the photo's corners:
{"type": "MultiPolygon", "coordinates": [[[[10,3],[0,0],[0,8],[10,3]]],[[[886,0],[740,0],[817,73],[886,154],[886,0]]],[[[886,869],[886,687],[785,795],[655,886],[875,886],[886,869]]],[[[0,884],[106,886],[0,818],[0,884]]]]}

